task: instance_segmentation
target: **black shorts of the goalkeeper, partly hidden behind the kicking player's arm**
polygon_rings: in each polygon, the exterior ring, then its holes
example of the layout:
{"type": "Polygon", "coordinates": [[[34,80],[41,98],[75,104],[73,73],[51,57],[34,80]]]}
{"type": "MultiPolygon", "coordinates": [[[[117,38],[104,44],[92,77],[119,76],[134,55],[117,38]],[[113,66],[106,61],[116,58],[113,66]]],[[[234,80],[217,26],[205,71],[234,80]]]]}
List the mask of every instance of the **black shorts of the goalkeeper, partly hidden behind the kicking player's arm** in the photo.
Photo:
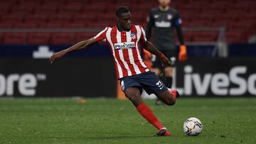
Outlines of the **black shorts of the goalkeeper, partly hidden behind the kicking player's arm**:
{"type": "MultiPolygon", "coordinates": [[[[170,50],[159,50],[162,52],[169,60],[171,60],[171,66],[175,66],[176,62],[176,50],[175,48],[170,49],[170,50]]],[[[152,62],[152,67],[153,68],[161,68],[161,61],[159,60],[159,57],[156,57],[156,55],[152,55],[151,57],[151,62],[152,62]]]]}

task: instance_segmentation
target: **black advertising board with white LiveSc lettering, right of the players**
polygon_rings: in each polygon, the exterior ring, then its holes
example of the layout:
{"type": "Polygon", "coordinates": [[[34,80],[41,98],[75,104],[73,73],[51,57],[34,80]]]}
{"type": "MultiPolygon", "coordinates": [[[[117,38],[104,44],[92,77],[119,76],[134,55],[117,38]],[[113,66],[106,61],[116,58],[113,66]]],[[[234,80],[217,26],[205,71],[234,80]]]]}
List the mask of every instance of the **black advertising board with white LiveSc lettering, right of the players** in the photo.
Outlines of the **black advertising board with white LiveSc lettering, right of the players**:
{"type": "Polygon", "coordinates": [[[183,96],[256,96],[255,57],[191,58],[175,74],[183,96]]]}

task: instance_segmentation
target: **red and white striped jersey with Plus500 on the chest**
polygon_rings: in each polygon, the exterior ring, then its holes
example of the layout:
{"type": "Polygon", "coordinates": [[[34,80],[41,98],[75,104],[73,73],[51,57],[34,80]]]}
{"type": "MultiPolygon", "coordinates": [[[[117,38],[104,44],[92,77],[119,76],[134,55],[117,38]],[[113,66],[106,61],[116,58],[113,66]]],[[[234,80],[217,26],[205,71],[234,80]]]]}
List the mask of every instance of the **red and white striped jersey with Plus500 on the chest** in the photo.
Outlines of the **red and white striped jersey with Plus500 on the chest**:
{"type": "Polygon", "coordinates": [[[94,38],[97,41],[106,40],[109,45],[114,56],[117,79],[149,71],[139,47],[139,43],[146,42],[142,26],[132,25],[130,31],[119,31],[117,26],[107,27],[94,38]]]}

